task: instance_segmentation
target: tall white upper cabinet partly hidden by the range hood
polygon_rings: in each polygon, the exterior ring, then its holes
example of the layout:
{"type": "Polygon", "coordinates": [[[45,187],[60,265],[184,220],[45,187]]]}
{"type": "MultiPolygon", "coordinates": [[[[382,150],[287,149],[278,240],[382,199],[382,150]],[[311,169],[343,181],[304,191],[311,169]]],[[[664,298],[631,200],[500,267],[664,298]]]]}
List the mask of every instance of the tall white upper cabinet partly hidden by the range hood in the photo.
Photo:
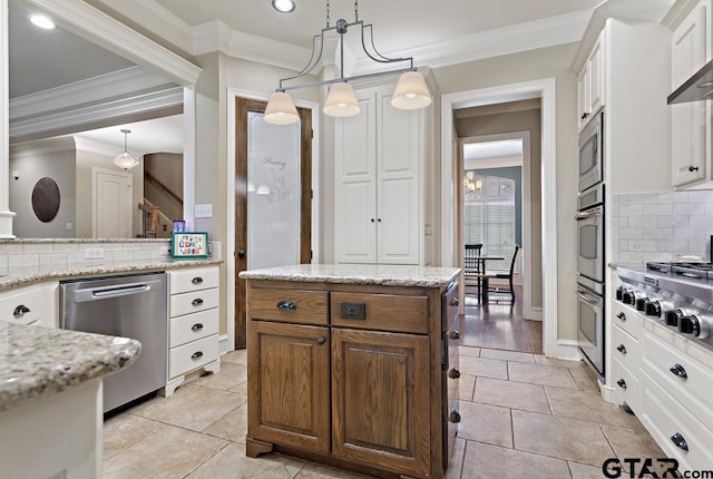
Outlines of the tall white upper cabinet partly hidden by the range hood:
{"type": "MultiPolygon", "coordinates": [[[[711,0],[697,2],[674,28],[672,91],[711,60],[711,0]]],[[[673,186],[695,186],[713,179],[710,101],[677,104],[670,108],[673,186]]]]}

